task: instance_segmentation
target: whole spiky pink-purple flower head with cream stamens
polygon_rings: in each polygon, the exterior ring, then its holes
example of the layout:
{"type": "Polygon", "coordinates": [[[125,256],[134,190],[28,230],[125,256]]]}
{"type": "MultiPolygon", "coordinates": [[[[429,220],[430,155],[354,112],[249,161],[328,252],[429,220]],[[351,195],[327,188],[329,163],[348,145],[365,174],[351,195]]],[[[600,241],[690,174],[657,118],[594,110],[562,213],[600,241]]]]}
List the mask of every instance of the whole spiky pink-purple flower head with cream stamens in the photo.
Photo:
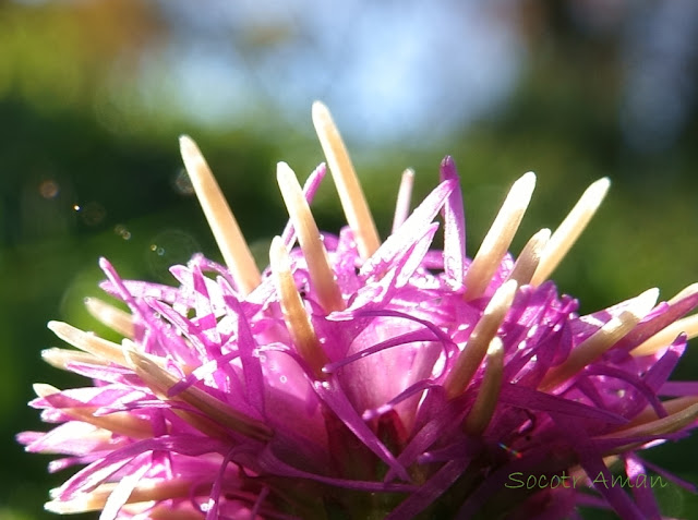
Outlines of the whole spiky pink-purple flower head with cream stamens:
{"type": "Polygon", "coordinates": [[[49,324],[80,350],[44,358],[94,384],[35,386],[32,406],[59,425],[20,442],[64,454],[51,471],[85,465],[47,509],[103,519],[562,519],[586,504],[659,518],[638,484],[650,469],[669,476],[636,452],[696,425],[697,385],[667,378],[698,332],[697,316],[682,319],[698,286],[660,304],[650,289],[579,316],[578,302],[546,281],[609,181],[515,262],[507,250],[535,182],[526,173],[470,259],[446,158],[441,183],[409,217],[406,171],[381,242],[321,104],[313,120],[349,222],[338,237],[321,234],[309,207],[325,167],[301,189],[280,162],[290,222],[260,273],[182,137],[227,266],[197,255],[171,268],[179,287],[165,287],[122,280],[103,259],[104,289],[130,313],[87,306],[122,343],[49,324]],[[440,214],[443,251],[431,249],[440,214]],[[612,481],[618,474],[625,485],[612,481]]]}

